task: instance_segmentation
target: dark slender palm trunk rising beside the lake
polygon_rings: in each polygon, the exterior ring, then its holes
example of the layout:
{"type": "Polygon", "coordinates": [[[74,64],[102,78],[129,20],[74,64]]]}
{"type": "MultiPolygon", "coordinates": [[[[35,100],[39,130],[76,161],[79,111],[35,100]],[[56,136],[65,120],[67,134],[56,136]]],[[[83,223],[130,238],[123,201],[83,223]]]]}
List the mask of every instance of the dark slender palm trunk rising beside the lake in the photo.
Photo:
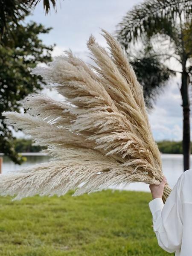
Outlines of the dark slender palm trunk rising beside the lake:
{"type": "Polygon", "coordinates": [[[190,168],[190,103],[189,103],[189,77],[186,70],[182,73],[181,82],[181,96],[182,96],[182,107],[183,107],[183,167],[184,171],[190,168]]]}

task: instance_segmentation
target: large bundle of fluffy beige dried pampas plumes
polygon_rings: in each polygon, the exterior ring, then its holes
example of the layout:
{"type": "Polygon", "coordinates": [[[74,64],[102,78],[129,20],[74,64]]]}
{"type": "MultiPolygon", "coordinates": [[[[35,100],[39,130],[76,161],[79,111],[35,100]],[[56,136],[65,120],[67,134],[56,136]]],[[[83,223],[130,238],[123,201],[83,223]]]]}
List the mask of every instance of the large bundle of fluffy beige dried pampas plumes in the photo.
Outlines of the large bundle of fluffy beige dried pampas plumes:
{"type": "MultiPolygon", "coordinates": [[[[159,184],[160,152],[151,133],[142,86],[118,42],[102,30],[110,53],[91,35],[87,47],[95,66],[67,51],[49,67],[33,70],[65,97],[41,94],[23,101],[27,113],[3,112],[6,122],[31,135],[52,161],[0,175],[0,195],[15,199],[81,195],[131,182],[159,184]]],[[[163,201],[169,196],[168,184],[163,201]]]]}

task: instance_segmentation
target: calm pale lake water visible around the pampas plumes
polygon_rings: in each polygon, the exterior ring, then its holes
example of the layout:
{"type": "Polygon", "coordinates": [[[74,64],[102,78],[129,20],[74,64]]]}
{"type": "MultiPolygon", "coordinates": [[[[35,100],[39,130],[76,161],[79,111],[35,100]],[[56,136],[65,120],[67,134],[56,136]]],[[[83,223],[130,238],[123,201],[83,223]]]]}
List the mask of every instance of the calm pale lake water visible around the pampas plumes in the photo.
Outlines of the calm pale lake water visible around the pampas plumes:
{"type": "MultiPolygon", "coordinates": [[[[30,153],[31,154],[31,153],[30,153]]],[[[24,155],[24,154],[23,154],[24,155]]],[[[25,154],[27,155],[27,154],[25,154]]],[[[50,157],[46,155],[30,155],[26,156],[27,161],[23,163],[21,166],[14,164],[9,160],[8,157],[3,157],[3,166],[2,173],[6,173],[9,171],[17,171],[19,169],[23,169],[26,166],[32,166],[37,163],[48,162],[50,157]]],[[[167,178],[169,186],[173,188],[177,179],[183,173],[183,155],[182,154],[161,154],[161,159],[163,163],[163,173],[167,178]]],[[[192,157],[190,159],[192,166],[192,157]]],[[[148,184],[144,183],[131,183],[122,188],[122,186],[111,186],[112,189],[124,189],[124,190],[137,190],[137,191],[150,191],[148,184]]]]}

